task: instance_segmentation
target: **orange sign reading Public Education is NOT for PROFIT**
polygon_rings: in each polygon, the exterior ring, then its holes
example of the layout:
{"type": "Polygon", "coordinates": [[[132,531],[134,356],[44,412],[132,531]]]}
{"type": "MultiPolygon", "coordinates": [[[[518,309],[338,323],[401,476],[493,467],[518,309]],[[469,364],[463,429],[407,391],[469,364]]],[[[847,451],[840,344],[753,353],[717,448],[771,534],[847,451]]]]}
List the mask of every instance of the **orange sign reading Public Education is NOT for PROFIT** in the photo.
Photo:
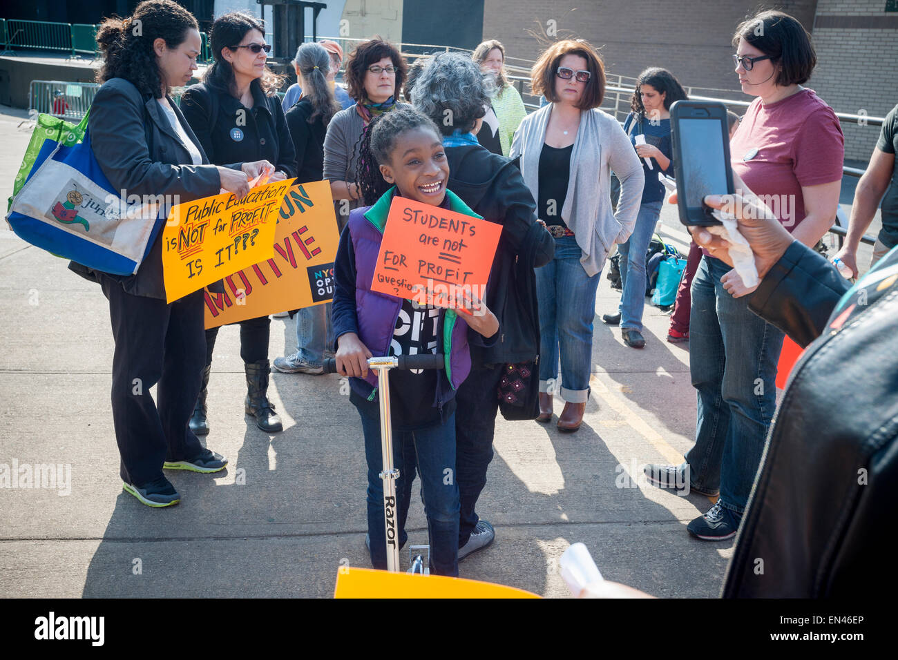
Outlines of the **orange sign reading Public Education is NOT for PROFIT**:
{"type": "Polygon", "coordinates": [[[239,201],[222,193],[172,207],[163,229],[167,302],[271,257],[277,209],[293,181],[253,188],[239,201]]]}

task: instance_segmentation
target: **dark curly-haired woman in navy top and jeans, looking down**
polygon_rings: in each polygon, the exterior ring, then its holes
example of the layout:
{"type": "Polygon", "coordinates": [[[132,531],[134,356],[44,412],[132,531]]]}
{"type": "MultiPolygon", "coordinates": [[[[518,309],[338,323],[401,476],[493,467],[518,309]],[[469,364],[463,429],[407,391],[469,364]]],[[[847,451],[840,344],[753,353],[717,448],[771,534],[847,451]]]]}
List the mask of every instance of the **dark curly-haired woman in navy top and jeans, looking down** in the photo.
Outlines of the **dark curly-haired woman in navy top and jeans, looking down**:
{"type": "Polygon", "coordinates": [[[621,253],[621,304],[618,313],[604,314],[602,320],[610,325],[621,324],[623,342],[630,348],[643,348],[642,312],[646,304],[646,251],[661,216],[665,188],[658,180],[658,172],[674,173],[674,150],[671,144],[670,107],[686,98],[682,85],[669,71],[653,66],[647,68],[636,81],[636,90],[629,101],[630,113],[623,122],[636,153],[642,159],[646,185],[636,227],[629,239],[618,245],[621,253]],[[642,136],[642,140],[638,140],[642,136]],[[649,165],[651,163],[651,165],[649,165]]]}

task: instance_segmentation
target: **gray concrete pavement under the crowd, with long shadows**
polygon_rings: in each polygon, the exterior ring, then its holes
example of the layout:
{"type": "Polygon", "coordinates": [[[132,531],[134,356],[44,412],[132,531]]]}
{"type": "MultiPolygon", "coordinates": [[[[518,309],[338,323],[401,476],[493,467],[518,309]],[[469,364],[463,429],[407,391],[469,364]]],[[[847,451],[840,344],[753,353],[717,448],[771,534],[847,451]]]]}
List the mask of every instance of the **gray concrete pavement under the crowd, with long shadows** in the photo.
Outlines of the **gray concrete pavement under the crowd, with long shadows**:
{"type": "MultiPolygon", "coordinates": [[[[3,199],[28,139],[18,121],[0,115],[3,199]]],[[[665,209],[662,232],[685,248],[674,208],[665,209]]],[[[584,426],[561,434],[555,419],[498,419],[478,506],[497,539],[461,564],[462,576],[566,596],[557,560],[583,541],[608,579],[659,596],[718,595],[732,541],[696,541],[685,531],[709,499],[638,479],[642,464],[680,461],[691,446],[689,349],[665,342],[668,317],[650,305],[646,348],[624,346],[620,330],[599,320],[619,298],[603,274],[584,426]]],[[[99,286],[4,227],[0,319],[0,463],[63,464],[71,474],[68,494],[58,484],[0,488],[0,593],[327,597],[342,559],[369,565],[361,426],[336,375],[272,374],[269,395],[285,430],[269,436],[243,416],[239,331],[223,329],[207,444],[231,462],[216,475],[170,473],[181,504],[156,510],[121,489],[99,286]]],[[[294,322],[272,321],[270,359],[294,347],[294,322]]],[[[427,542],[418,497],[407,529],[411,542],[427,542]]]]}

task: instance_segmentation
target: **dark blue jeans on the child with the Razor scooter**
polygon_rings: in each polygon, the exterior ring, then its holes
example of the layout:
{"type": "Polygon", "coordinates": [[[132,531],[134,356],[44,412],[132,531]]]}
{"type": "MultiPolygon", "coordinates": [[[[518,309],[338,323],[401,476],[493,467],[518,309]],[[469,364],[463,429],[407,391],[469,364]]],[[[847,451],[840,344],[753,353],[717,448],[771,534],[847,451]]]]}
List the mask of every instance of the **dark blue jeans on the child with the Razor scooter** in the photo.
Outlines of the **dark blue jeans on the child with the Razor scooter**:
{"type": "MultiPolygon", "coordinates": [[[[371,535],[371,563],[387,568],[386,532],[383,520],[383,470],[380,415],[368,417],[359,410],[365,434],[365,459],[368,462],[368,533],[371,535]]],[[[408,534],[411,482],[415,470],[421,477],[421,499],[427,515],[430,537],[430,572],[439,576],[458,576],[459,495],[455,480],[455,415],[445,425],[392,434],[393,466],[400,472],[396,480],[396,531],[400,547],[408,534]],[[414,448],[414,452],[410,447],[414,448]],[[406,456],[406,459],[403,459],[406,456]],[[417,464],[407,465],[414,460],[417,464]]]]}

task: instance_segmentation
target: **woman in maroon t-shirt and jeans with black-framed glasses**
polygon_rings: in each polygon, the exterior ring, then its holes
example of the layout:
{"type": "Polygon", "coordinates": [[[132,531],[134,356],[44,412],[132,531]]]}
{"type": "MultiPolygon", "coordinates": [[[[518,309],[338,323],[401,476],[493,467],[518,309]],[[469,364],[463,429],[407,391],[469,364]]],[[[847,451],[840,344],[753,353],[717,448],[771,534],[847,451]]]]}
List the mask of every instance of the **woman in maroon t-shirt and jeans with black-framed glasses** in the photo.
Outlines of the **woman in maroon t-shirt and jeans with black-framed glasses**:
{"type": "MultiPolygon", "coordinates": [[[[733,173],[741,177],[736,192],[744,186],[743,196],[757,195],[793,238],[814,246],[839,207],[844,140],[832,108],[802,86],[816,65],[810,35],[788,14],[767,11],[740,24],[733,45],[742,90],[756,97],[730,140],[733,173]]],[[[659,486],[690,483],[709,497],[719,492],[717,503],[687,526],[704,541],[735,536],[776,409],[783,333],[751,312],[745,296],[752,292],[704,251],[690,321],[695,445],[681,465],[645,468],[659,486]]]]}

